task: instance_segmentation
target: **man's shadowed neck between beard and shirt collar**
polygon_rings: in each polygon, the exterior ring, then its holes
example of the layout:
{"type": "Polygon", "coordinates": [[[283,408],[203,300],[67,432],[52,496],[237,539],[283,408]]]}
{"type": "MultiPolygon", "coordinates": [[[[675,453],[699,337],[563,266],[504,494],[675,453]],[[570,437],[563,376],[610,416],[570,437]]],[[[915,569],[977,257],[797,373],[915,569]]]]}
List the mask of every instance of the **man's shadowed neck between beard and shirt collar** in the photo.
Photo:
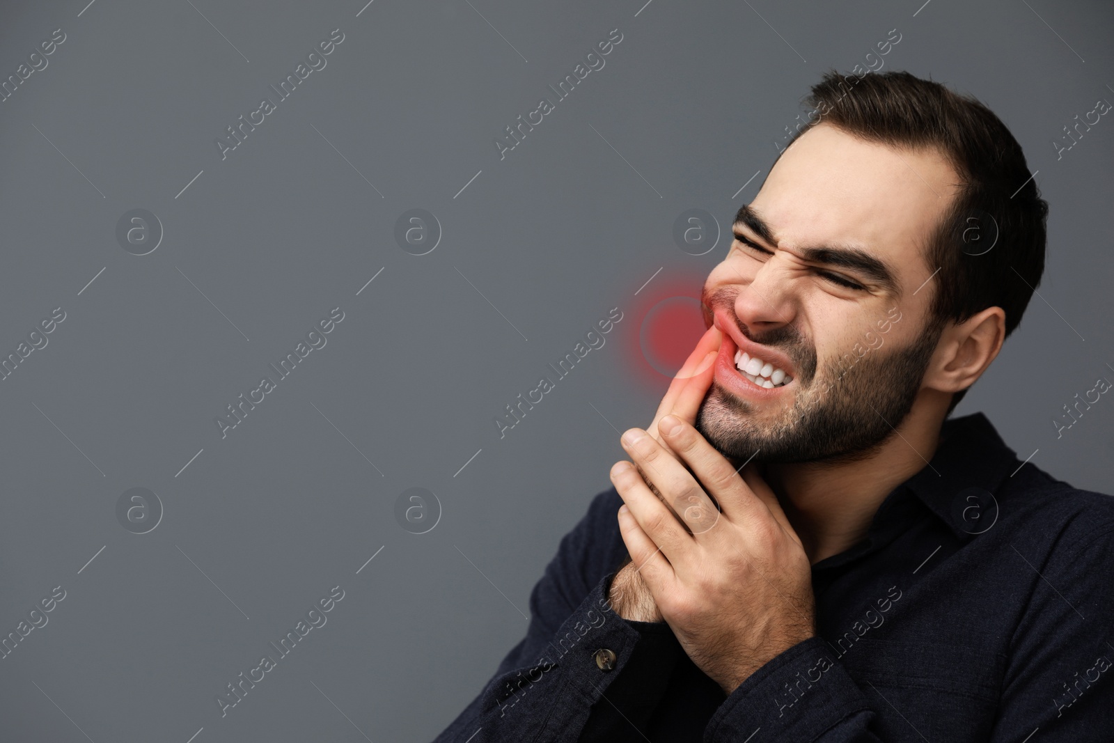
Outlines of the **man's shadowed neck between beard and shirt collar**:
{"type": "Polygon", "coordinates": [[[886,496],[932,459],[942,421],[944,410],[938,404],[918,398],[897,433],[867,457],[765,466],[763,476],[810,563],[838,555],[867,535],[886,496]]]}

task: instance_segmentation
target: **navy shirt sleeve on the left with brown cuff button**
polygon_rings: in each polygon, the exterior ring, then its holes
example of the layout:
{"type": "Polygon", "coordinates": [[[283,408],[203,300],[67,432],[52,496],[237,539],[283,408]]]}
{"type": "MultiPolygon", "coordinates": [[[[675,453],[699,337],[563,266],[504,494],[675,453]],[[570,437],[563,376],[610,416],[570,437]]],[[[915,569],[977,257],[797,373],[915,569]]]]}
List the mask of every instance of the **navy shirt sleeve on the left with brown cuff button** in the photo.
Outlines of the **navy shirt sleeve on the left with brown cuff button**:
{"type": "MultiPolygon", "coordinates": [[[[614,488],[599,493],[565,535],[530,593],[526,637],[434,743],[573,743],[593,705],[607,705],[608,690],[620,677],[617,697],[653,696],[654,690],[664,690],[664,661],[671,656],[663,649],[661,628],[670,632],[667,625],[628,623],[607,602],[614,566],[626,554],[622,539],[615,539],[620,502],[614,488]],[[658,653],[657,662],[646,664],[655,673],[624,675],[636,645],[646,654],[658,653]]],[[[594,718],[594,729],[608,724],[606,714],[594,718]]]]}

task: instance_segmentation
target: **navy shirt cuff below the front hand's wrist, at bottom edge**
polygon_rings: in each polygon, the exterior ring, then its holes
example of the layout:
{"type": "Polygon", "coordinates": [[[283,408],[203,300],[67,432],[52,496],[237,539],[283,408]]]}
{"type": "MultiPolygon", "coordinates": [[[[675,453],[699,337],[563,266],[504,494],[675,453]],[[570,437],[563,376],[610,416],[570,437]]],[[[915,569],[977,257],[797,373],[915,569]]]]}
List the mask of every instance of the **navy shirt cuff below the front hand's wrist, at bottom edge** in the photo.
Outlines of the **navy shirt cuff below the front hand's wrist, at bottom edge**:
{"type": "Polygon", "coordinates": [[[709,721],[705,743],[763,737],[811,741],[841,720],[870,710],[867,696],[820,636],[798,643],[754,672],[709,721]]]}

